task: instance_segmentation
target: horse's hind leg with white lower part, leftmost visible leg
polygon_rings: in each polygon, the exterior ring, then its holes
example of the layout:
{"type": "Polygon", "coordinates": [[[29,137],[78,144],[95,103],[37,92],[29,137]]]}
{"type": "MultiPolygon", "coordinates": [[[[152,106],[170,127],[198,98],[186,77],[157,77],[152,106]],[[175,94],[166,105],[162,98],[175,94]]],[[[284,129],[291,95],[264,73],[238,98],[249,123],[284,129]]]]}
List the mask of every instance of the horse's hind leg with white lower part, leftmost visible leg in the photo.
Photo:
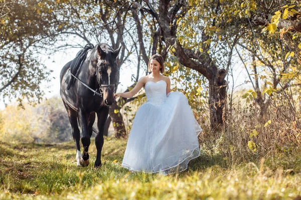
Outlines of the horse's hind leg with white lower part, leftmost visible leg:
{"type": "Polygon", "coordinates": [[[69,117],[69,121],[71,124],[71,128],[72,128],[72,136],[73,136],[73,140],[75,141],[75,145],[76,145],[76,161],[77,161],[77,165],[80,165],[80,158],[81,158],[81,152],[80,152],[80,143],[79,143],[79,139],[80,139],[80,131],[78,128],[78,124],[77,124],[77,111],[75,111],[74,109],[72,109],[67,103],[64,102],[65,108],[67,110],[68,113],[68,117],[69,117]]]}

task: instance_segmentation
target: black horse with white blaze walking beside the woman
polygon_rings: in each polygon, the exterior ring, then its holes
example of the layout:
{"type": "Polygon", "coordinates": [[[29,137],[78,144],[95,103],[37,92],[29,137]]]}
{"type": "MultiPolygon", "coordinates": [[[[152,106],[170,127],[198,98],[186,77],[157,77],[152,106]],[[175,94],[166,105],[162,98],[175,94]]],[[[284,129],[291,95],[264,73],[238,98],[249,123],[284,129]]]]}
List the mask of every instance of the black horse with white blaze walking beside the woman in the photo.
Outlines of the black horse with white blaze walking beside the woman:
{"type": "Polygon", "coordinates": [[[109,105],[115,100],[113,94],[116,91],[119,79],[119,67],[116,63],[116,57],[120,48],[121,46],[113,50],[108,44],[97,44],[88,52],[69,90],[65,80],[70,75],[69,69],[72,61],[69,61],[61,70],[60,94],[68,112],[73,139],[76,142],[77,165],[87,166],[89,164],[88,150],[96,112],[98,132],[95,137],[97,156],[94,166],[101,166],[103,128],[108,116],[109,105]],[[99,92],[93,92],[87,86],[92,90],[99,90],[99,92]],[[95,93],[99,95],[95,95],[95,93]],[[79,122],[82,130],[83,153],[80,152],[80,131],[77,122],[79,122]]]}

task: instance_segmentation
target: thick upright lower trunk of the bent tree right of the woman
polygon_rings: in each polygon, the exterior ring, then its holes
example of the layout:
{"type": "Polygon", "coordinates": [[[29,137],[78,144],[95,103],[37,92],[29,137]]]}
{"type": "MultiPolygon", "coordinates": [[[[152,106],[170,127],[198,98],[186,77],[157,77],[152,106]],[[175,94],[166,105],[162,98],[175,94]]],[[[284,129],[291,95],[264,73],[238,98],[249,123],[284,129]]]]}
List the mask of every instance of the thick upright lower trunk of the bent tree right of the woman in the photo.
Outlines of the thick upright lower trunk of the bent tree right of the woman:
{"type": "Polygon", "coordinates": [[[225,80],[226,70],[220,69],[218,74],[209,80],[209,109],[210,109],[210,129],[211,131],[220,131],[222,124],[226,119],[224,112],[226,88],[225,80]]]}

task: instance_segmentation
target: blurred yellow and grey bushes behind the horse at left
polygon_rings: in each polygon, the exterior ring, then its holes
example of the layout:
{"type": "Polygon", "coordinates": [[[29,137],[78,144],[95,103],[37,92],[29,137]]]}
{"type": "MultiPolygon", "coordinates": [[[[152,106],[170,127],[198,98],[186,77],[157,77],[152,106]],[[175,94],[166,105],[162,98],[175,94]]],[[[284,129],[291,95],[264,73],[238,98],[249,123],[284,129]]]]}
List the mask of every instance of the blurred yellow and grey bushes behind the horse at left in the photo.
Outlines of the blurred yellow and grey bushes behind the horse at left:
{"type": "Polygon", "coordinates": [[[44,100],[35,107],[10,105],[1,115],[0,140],[57,143],[72,139],[69,119],[59,98],[44,100]]]}

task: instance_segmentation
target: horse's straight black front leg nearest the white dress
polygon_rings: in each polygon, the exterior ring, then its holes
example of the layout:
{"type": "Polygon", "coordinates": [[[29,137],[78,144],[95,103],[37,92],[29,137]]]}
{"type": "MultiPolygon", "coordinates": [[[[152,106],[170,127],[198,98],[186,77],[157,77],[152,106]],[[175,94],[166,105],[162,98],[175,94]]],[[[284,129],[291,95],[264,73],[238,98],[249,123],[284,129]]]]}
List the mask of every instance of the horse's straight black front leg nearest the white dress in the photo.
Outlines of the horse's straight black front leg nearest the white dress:
{"type": "Polygon", "coordinates": [[[105,121],[109,114],[109,107],[103,106],[100,111],[97,112],[97,126],[98,126],[98,133],[95,137],[95,145],[97,149],[97,155],[94,167],[100,167],[101,166],[101,149],[103,146],[103,128],[105,121]]]}

